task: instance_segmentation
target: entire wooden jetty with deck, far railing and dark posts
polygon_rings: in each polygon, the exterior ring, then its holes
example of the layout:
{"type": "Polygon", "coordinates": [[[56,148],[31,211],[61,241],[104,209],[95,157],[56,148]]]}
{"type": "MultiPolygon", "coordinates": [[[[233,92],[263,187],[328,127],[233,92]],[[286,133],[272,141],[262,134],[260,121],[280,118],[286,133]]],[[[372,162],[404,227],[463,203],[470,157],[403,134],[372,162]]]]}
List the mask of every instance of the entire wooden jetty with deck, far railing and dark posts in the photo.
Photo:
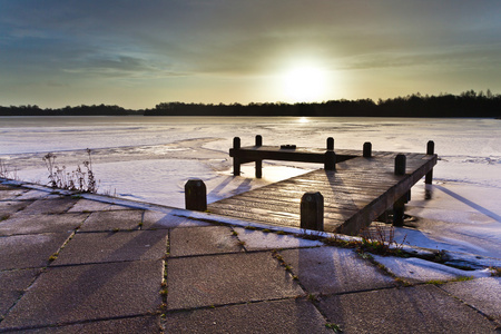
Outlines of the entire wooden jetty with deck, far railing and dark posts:
{"type": "Polygon", "coordinates": [[[430,184],[438,160],[433,141],[426,154],[396,154],[372,151],[370,143],[363,150],[334,150],[332,138],[326,149],[272,147],[263,146],[259,137],[249,147],[240,147],[235,138],[229,151],[235,175],[239,175],[240,164],[255,163],[256,177],[262,177],[264,159],[318,163],[324,168],[212,203],[209,212],[354,235],[392,207],[394,224],[402,224],[411,187],[423,176],[430,184]]]}

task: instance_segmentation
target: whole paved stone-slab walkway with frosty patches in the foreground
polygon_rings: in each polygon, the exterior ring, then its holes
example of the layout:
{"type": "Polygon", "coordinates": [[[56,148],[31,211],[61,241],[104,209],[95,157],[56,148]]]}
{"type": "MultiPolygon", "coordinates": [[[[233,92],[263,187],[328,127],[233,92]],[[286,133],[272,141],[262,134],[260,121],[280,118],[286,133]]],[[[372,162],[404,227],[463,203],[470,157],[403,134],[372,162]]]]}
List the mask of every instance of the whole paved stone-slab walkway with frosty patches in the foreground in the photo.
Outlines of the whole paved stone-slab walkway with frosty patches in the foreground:
{"type": "Polygon", "coordinates": [[[181,214],[0,184],[0,332],[500,332],[500,277],[395,279],[397,262],[181,214]]]}

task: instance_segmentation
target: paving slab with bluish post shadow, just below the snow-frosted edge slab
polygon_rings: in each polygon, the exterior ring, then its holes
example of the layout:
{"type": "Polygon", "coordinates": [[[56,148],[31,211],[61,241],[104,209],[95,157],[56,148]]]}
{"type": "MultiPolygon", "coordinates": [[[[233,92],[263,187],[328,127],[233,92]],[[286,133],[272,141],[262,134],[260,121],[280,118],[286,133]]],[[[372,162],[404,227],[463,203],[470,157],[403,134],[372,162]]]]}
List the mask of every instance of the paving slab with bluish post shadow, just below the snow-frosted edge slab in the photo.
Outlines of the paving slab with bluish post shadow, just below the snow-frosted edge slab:
{"type": "Polygon", "coordinates": [[[317,247],[282,250],[279,254],[310,293],[346,293],[396,284],[352,249],[317,247]]]}

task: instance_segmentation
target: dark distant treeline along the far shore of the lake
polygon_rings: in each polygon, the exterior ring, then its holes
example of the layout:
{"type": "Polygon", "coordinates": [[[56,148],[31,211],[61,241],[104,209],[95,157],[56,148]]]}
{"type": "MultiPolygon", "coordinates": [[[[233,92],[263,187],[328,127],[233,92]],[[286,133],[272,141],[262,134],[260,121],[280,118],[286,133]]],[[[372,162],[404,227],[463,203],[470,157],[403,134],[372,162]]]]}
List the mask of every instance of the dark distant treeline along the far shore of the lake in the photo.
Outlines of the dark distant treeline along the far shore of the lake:
{"type": "Polygon", "coordinates": [[[154,109],[119,106],[78,106],[41,109],[38,106],[0,107],[0,116],[304,116],[304,117],[501,117],[501,95],[474,90],[460,95],[420,94],[391,99],[331,100],[324,102],[185,104],[161,102],[154,109]]]}

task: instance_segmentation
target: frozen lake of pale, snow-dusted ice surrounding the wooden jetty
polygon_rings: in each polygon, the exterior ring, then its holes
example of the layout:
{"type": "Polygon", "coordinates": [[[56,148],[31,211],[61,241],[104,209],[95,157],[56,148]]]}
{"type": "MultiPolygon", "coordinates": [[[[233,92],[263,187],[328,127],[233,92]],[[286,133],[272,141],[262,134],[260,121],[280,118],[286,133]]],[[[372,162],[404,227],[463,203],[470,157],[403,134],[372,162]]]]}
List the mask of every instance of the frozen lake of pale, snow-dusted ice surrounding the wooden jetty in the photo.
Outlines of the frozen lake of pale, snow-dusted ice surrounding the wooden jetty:
{"type": "Polygon", "coordinates": [[[230,174],[233,137],[253,145],[294,144],[336,148],[425,151],[435,143],[434,183],[420,181],[406,214],[412,226],[397,229],[410,244],[501,258],[501,120],[297,117],[0,117],[0,158],[22,180],[47,184],[47,153],[72,170],[92,150],[100,191],[184,207],[184,184],[207,185],[209,202],[322,166],[265,161],[263,179],[253,165],[230,174]],[[431,199],[425,195],[431,194],[431,199]],[[428,197],[426,197],[428,198],[428,197]]]}

